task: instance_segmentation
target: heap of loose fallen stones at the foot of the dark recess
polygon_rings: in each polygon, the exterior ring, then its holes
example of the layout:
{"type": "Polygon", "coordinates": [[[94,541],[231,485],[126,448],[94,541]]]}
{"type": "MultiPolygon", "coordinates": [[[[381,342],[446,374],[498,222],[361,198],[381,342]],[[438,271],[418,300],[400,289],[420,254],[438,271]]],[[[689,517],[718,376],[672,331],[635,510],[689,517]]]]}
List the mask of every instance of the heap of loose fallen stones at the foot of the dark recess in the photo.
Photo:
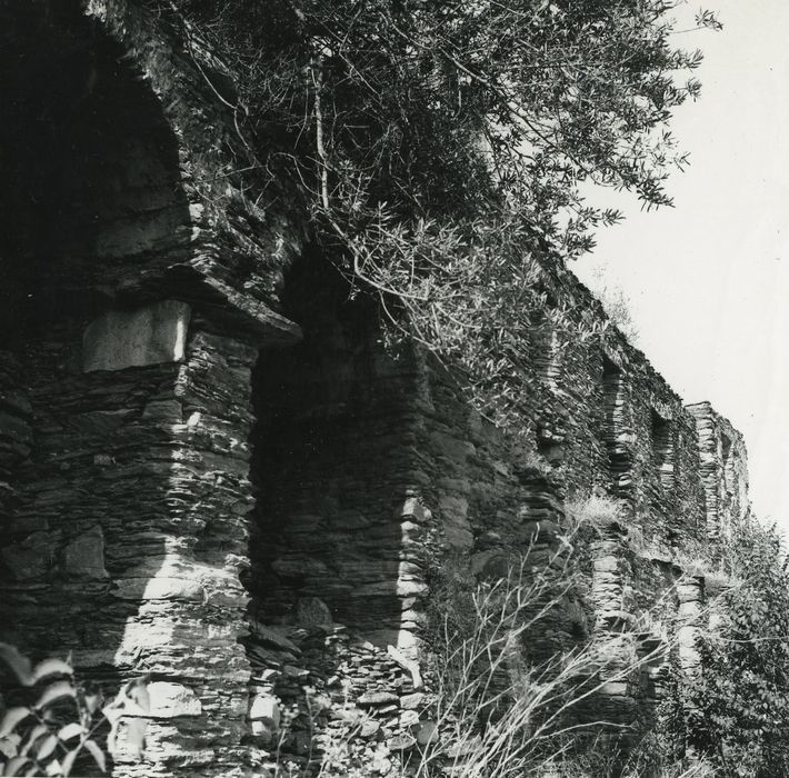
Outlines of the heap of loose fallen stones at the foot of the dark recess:
{"type": "MultiPolygon", "coordinates": [[[[338,624],[260,627],[253,628],[252,639],[269,636],[268,667],[256,669],[251,687],[252,699],[264,701],[256,705],[256,718],[250,709],[250,724],[261,742],[266,740],[273,727],[264,718],[276,700],[282,760],[310,754],[319,759],[321,749],[334,754],[341,744],[349,768],[389,775],[417,748],[418,737],[435,741],[433,728],[420,721],[428,695],[415,689],[415,676],[422,682],[418,665],[399,649],[354,640],[338,624]],[[267,629],[278,636],[279,649],[267,629]],[[299,652],[294,665],[284,659],[293,656],[287,650],[293,648],[299,652]]],[[[249,656],[254,666],[259,655],[252,646],[249,656]]]]}

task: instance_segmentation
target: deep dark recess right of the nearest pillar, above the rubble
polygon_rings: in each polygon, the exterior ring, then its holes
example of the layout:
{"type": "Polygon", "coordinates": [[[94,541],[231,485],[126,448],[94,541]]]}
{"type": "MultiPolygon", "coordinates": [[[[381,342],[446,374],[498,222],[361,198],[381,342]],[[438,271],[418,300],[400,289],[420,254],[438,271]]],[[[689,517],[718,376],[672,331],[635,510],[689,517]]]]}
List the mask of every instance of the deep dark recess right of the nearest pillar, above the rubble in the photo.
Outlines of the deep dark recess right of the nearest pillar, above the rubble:
{"type": "Polygon", "coordinates": [[[298,621],[318,598],[373,644],[412,648],[402,614],[423,588],[400,518],[419,486],[416,366],[384,352],[374,302],[316,248],[289,275],[284,315],[303,342],[262,352],[254,373],[254,616],[298,621]]]}

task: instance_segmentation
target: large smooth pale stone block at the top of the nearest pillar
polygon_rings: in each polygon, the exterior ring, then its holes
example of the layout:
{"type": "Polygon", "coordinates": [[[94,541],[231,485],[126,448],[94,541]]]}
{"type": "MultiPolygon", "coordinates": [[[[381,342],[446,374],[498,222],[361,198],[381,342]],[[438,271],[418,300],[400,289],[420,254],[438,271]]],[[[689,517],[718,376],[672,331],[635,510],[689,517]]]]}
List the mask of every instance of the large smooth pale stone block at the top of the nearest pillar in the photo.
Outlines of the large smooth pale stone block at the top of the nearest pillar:
{"type": "Polygon", "coordinates": [[[183,360],[190,308],[162,300],[136,310],[112,310],[82,336],[82,370],[123,370],[183,360]]]}

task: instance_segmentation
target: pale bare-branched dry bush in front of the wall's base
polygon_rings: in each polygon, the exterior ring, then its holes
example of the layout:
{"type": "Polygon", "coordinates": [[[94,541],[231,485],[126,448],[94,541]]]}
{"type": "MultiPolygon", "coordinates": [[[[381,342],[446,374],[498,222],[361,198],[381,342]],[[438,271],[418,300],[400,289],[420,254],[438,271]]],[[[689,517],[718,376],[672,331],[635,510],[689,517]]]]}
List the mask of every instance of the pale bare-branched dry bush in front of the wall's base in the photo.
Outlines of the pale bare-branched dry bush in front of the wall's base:
{"type": "Polygon", "coordinates": [[[577,599],[576,539],[558,538],[540,561],[532,542],[509,557],[503,575],[478,582],[463,575],[461,559],[449,560],[431,616],[429,712],[437,735],[415,756],[413,775],[577,770],[573,755],[595,732],[607,734],[616,762],[622,730],[596,716],[595,701],[607,684],[627,682],[666,649],[640,656],[632,635],[573,634],[568,619],[576,611],[568,606],[577,599]]]}

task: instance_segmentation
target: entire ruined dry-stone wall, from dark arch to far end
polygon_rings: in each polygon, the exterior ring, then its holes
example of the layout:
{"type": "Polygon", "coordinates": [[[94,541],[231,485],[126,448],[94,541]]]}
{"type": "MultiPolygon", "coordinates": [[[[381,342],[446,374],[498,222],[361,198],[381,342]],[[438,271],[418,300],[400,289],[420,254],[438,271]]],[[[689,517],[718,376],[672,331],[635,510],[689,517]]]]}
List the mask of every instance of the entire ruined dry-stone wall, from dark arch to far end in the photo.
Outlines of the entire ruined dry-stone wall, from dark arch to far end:
{"type": "MultiPolygon", "coordinates": [[[[0,639],[71,650],[108,688],[151,674],[147,761],[117,775],[242,775],[289,706],[284,747],[303,758],[306,694],[324,718],[363,714],[360,758],[386,772],[419,736],[430,569],[547,553],[566,501],[595,492],[626,520],[591,543],[585,629],[643,630],[650,650],[660,625],[639,614],[748,513],[726,419],[683,407],[546,269],[523,343],[532,418],[493,430],[429,360],[382,348],[374,307],[314,271],[282,192],[242,193],[216,98],[231,84],[208,52],[119,0],[3,13],[19,92],[2,137],[0,639]],[[68,57],[41,71],[37,47],[68,57]]],[[[690,581],[671,608],[692,617],[702,597],[690,581]]],[[[611,684],[610,719],[638,726],[662,671],[611,684]]]]}

